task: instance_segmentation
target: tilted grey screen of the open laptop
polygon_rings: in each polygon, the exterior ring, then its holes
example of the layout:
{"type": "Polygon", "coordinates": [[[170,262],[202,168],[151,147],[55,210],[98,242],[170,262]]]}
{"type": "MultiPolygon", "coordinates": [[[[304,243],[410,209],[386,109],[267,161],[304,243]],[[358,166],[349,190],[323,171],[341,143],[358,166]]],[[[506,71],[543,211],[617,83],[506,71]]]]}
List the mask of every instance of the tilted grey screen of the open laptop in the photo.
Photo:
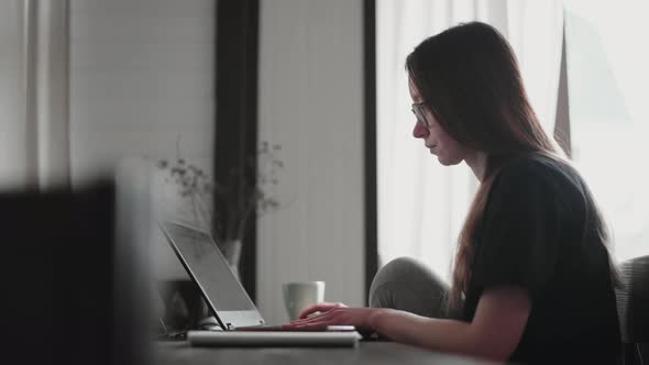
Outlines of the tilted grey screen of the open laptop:
{"type": "Polygon", "coordinates": [[[204,232],[164,222],[179,254],[217,312],[255,310],[212,239],[204,232]]]}

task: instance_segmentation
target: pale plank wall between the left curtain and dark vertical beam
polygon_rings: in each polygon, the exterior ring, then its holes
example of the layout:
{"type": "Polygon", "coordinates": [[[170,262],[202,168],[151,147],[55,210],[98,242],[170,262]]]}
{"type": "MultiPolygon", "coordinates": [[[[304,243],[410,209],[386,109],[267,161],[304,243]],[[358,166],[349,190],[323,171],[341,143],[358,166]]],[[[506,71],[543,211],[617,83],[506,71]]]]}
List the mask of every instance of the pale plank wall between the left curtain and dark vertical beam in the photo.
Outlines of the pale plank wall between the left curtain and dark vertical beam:
{"type": "MultiPolygon", "coordinates": [[[[208,157],[215,92],[213,0],[72,0],[70,144],[73,181],[123,156],[208,157]]],[[[184,269],[164,242],[163,276],[184,269]]]]}

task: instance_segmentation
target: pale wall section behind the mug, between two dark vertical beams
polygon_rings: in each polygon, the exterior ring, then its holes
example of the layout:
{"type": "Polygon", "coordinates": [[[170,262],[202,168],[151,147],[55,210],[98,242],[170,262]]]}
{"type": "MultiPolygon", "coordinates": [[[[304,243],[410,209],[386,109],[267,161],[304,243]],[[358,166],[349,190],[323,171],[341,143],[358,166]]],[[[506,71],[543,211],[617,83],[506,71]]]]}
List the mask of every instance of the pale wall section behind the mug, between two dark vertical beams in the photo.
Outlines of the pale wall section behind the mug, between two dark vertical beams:
{"type": "Polygon", "coordinates": [[[282,144],[288,207],[257,231],[257,302],[285,321],[282,283],[327,281],[364,305],[363,2],[263,0],[260,139],[282,144]]]}

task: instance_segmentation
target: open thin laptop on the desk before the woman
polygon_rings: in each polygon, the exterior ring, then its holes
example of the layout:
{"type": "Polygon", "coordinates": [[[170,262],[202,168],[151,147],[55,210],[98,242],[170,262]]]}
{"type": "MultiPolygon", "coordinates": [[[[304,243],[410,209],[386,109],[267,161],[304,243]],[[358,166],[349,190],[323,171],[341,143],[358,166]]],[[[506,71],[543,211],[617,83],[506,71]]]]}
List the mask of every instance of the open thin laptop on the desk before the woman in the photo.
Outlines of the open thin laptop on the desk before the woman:
{"type": "Polygon", "coordinates": [[[207,232],[167,220],[160,226],[218,323],[210,331],[189,331],[193,345],[355,346],[361,339],[353,327],[295,331],[266,325],[207,232]]]}

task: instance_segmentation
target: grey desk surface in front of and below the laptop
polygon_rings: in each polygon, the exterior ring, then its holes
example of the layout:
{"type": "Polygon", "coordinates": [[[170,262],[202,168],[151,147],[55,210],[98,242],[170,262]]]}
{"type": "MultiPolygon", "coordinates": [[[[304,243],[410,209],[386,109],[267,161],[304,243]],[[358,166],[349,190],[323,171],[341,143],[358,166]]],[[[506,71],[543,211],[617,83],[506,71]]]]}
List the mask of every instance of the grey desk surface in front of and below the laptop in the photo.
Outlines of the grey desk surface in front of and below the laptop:
{"type": "Polygon", "coordinates": [[[186,342],[156,342],[154,362],[160,365],[293,365],[293,364],[490,364],[472,358],[424,351],[393,342],[361,342],[358,347],[191,347],[186,342]]]}

